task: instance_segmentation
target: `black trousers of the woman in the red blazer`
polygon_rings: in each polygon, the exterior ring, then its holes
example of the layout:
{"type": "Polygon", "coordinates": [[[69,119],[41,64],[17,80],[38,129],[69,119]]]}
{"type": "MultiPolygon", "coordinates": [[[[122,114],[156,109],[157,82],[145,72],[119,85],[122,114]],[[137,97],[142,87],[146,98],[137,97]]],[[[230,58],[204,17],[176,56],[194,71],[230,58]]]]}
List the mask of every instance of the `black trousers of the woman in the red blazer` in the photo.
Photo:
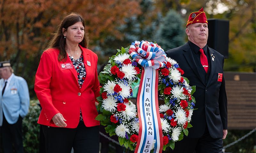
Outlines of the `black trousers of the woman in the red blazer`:
{"type": "Polygon", "coordinates": [[[43,125],[46,153],[99,153],[100,127],[86,127],[80,121],[76,128],[43,125]]]}

